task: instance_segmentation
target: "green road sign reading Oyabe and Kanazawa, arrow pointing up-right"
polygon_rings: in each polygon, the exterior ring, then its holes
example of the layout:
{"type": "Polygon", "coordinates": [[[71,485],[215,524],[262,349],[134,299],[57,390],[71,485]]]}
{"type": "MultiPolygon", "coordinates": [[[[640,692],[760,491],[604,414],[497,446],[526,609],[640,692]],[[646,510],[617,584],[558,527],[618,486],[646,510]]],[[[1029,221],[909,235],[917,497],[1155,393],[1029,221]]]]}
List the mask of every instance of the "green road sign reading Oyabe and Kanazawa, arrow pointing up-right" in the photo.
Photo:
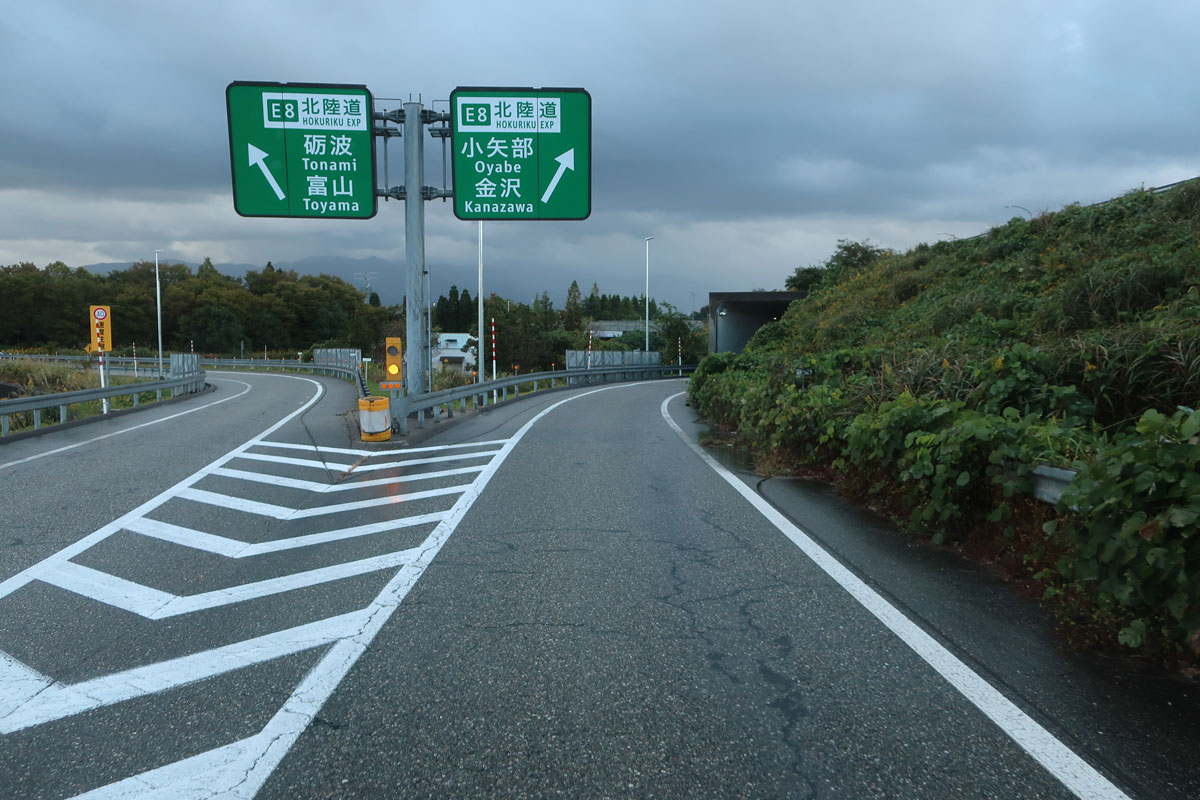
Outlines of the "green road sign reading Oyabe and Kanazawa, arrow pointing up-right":
{"type": "Polygon", "coordinates": [[[450,92],[460,219],[586,219],[592,96],[583,89],[450,92]]]}

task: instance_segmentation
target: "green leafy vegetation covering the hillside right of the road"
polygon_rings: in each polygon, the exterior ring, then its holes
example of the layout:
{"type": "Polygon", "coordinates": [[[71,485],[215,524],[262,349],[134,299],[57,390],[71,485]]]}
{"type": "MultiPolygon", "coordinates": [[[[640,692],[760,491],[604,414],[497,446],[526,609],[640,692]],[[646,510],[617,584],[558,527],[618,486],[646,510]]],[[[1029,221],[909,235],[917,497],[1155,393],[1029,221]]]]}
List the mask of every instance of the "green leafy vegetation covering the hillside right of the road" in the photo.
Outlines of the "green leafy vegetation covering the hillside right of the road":
{"type": "Polygon", "coordinates": [[[1200,181],[894,253],[840,242],[694,404],[935,541],[1032,576],[1080,638],[1200,654],[1200,181]],[[1057,509],[1037,464],[1079,476],[1057,509]]]}

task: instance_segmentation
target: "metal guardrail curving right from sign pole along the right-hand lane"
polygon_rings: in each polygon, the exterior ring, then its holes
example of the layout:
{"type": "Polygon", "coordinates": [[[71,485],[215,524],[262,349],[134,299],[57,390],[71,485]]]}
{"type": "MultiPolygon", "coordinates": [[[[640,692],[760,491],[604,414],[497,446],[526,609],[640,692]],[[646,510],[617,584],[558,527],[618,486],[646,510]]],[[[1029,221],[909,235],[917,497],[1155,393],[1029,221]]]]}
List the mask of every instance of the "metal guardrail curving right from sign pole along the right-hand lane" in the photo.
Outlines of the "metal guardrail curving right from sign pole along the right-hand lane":
{"type": "Polygon", "coordinates": [[[634,380],[637,378],[658,379],[682,377],[685,372],[694,372],[695,365],[644,365],[644,366],[620,366],[620,367],[593,367],[590,369],[560,369],[558,372],[530,372],[524,375],[510,375],[499,380],[487,380],[480,384],[468,384],[455,389],[443,389],[437,392],[422,395],[409,395],[408,397],[394,397],[395,407],[391,416],[402,434],[408,433],[408,417],[416,414],[416,426],[425,427],[425,415],[439,407],[445,407],[449,416],[454,416],[455,404],[460,404],[462,410],[481,408],[488,404],[487,397],[491,395],[492,404],[503,403],[509,399],[509,390],[514,390],[514,397],[520,396],[520,387],[532,384],[533,391],[538,391],[539,384],[548,384],[551,387],[558,381],[564,385],[590,385],[593,383],[606,383],[608,379],[634,380]],[[571,381],[575,381],[574,384],[571,381]]]}

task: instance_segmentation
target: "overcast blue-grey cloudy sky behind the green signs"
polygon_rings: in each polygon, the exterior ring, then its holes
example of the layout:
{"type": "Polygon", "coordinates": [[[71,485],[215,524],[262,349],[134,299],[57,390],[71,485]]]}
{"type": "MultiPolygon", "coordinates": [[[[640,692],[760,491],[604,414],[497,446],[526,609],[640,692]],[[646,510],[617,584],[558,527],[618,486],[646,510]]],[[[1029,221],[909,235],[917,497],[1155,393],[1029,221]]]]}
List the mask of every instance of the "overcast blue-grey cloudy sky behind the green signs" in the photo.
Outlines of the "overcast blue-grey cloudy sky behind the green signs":
{"type": "MultiPolygon", "coordinates": [[[[1198,31],[1194,0],[8,2],[0,265],[162,248],[401,270],[401,203],[370,221],[235,213],[226,86],[365,84],[379,106],[438,110],[455,86],[581,86],[592,216],[487,223],[485,291],[640,295],[654,236],[650,294],[690,309],[780,289],[839,239],[905,249],[1022,213],[1009,206],[1200,174],[1198,31]]],[[[476,225],[449,203],[426,204],[426,255],[434,295],[474,295],[476,225]]]]}

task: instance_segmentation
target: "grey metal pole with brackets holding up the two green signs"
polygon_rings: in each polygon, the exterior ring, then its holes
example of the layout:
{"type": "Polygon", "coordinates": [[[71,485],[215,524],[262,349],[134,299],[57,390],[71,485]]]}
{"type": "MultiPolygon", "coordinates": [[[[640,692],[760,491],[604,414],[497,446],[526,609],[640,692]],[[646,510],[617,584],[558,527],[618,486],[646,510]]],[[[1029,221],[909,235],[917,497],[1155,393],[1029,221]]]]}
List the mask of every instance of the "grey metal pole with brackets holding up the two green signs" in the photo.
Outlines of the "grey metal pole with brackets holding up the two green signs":
{"type": "MultiPolygon", "coordinates": [[[[408,397],[425,392],[430,374],[430,332],[425,320],[425,203],[452,192],[425,186],[425,125],[448,122],[449,114],[426,112],[421,103],[404,103],[403,110],[374,114],[376,120],[403,125],[404,185],[379,192],[383,197],[404,200],[404,386],[406,396],[395,398],[394,414],[402,434],[408,433],[408,414],[413,411],[408,397]],[[415,201],[414,201],[415,200],[415,201]]],[[[377,136],[395,136],[386,127],[374,130],[377,136]]],[[[385,145],[386,146],[386,145],[385,145]]],[[[425,409],[415,409],[418,423],[425,426],[425,409]]]]}

